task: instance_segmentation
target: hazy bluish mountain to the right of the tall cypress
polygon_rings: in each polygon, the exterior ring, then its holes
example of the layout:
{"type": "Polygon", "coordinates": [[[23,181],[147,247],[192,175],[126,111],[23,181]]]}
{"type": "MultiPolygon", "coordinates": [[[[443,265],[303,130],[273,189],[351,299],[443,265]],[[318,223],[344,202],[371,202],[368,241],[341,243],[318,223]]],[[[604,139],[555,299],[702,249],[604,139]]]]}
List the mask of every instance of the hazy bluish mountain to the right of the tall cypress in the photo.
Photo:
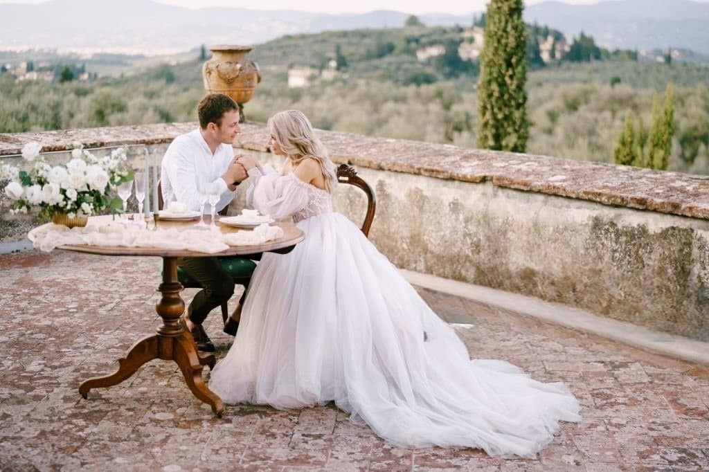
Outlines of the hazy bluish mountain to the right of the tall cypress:
{"type": "Polygon", "coordinates": [[[709,54],[709,4],[689,0],[615,0],[592,5],[547,1],[527,6],[525,20],[553,25],[571,39],[590,33],[609,48],[673,47],[709,54]]]}

